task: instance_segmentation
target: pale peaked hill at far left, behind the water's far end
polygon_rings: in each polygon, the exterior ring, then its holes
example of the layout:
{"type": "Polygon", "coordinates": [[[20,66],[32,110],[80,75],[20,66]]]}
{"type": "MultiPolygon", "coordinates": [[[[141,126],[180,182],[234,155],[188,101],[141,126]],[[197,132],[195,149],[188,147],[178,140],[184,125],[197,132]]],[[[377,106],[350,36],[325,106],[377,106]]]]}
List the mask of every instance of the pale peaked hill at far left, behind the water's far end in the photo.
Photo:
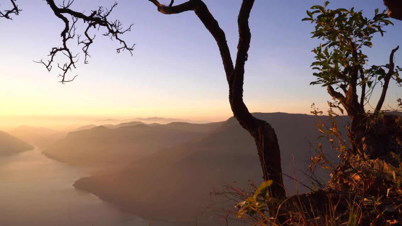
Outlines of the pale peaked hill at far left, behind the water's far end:
{"type": "Polygon", "coordinates": [[[45,127],[32,127],[21,125],[9,131],[10,134],[20,138],[21,140],[45,149],[57,140],[66,136],[66,133],[59,132],[45,127]]]}

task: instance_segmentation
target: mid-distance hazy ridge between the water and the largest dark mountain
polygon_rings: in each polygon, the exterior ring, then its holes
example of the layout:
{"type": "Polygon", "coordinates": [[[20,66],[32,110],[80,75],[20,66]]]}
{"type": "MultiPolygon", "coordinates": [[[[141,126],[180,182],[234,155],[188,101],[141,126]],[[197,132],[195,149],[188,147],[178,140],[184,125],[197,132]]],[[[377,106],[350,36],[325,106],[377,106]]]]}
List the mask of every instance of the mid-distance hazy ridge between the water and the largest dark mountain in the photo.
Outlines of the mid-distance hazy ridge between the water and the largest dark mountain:
{"type": "Polygon", "coordinates": [[[146,125],[131,122],[123,123],[123,126],[115,129],[97,126],[70,132],[66,138],[55,142],[43,153],[70,164],[102,168],[121,167],[133,159],[143,158],[161,148],[169,148],[199,137],[218,125],[218,123],[146,125]]]}

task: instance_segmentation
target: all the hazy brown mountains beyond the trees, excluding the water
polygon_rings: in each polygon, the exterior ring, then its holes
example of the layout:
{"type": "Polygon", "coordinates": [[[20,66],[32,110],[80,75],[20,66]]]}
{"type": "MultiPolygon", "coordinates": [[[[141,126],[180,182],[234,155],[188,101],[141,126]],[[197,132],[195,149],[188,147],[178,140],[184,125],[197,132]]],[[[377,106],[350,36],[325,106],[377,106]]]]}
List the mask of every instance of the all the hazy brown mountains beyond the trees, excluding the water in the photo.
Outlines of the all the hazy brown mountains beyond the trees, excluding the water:
{"type": "MultiPolygon", "coordinates": [[[[288,113],[253,115],[275,128],[283,173],[293,177],[294,160],[297,180],[311,185],[298,169],[307,171],[306,161],[314,152],[309,141],[316,143],[321,135],[315,125],[317,117],[288,113]]],[[[10,133],[44,148],[48,157],[103,171],[76,181],[74,187],[141,216],[193,220],[215,200],[209,196],[213,187],[222,183],[245,187],[248,179],[256,184],[261,181],[254,140],[233,117],[214,123],[157,117],[127,120],[133,121],[98,120],[68,134],[29,126],[17,127],[10,133]]],[[[22,140],[0,132],[0,154],[33,148],[22,140]]],[[[328,150],[326,154],[336,159],[338,153],[331,151],[324,140],[321,142],[323,149],[328,150]]],[[[295,181],[286,176],[284,179],[289,194],[293,193],[295,181]]],[[[297,190],[308,191],[300,184],[297,190]]]]}

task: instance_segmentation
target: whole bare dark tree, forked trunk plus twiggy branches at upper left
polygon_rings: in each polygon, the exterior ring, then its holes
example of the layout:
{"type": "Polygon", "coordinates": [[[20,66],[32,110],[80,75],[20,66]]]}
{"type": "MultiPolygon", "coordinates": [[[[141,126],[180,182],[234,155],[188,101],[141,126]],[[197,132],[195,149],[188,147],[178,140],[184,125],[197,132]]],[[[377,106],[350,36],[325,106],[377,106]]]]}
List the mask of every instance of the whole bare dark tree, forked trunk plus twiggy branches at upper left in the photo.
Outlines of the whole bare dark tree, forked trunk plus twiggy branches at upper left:
{"type": "MultiPolygon", "coordinates": [[[[0,14],[1,17],[11,19],[11,15],[18,15],[21,10],[15,4],[15,0],[10,0],[13,8],[10,10],[4,10],[4,14],[0,14]]],[[[62,5],[57,6],[54,0],[45,0],[54,12],[55,16],[60,18],[64,22],[64,29],[61,33],[62,46],[53,47],[49,53],[49,60],[44,62],[40,60],[38,63],[44,64],[47,70],[52,69],[53,58],[55,55],[62,53],[66,55],[67,62],[59,65],[57,68],[61,70],[59,76],[62,78],[60,82],[70,82],[74,80],[75,76],[71,79],[67,78],[67,73],[75,68],[75,63],[78,55],[74,55],[68,46],[68,41],[76,37],[76,24],[79,19],[84,21],[86,29],[84,31],[85,39],[78,37],[78,43],[82,46],[82,51],[85,55],[84,62],[87,63],[87,57],[89,57],[88,48],[94,41],[94,37],[88,35],[90,29],[98,29],[103,27],[106,29],[106,33],[103,35],[111,37],[121,43],[121,47],[117,49],[117,52],[127,50],[131,53],[133,51],[133,45],[127,45],[125,41],[120,38],[120,35],[130,31],[131,26],[127,29],[123,29],[120,21],[109,20],[109,15],[113,8],[117,6],[115,3],[111,8],[99,7],[93,10],[91,13],[85,14],[76,12],[70,9],[74,0],[63,1],[62,5]]],[[[232,61],[232,56],[229,51],[228,43],[226,41],[224,31],[219,27],[218,22],[209,12],[207,6],[202,0],[189,0],[183,4],[173,6],[174,0],[172,0],[169,6],[160,4],[158,0],[149,0],[153,3],[157,10],[163,14],[178,14],[185,11],[194,11],[205,28],[211,33],[216,40],[220,55],[222,56],[222,63],[226,73],[226,78],[229,86],[229,102],[232,108],[234,117],[239,121],[240,125],[246,129],[254,138],[258,156],[260,158],[260,164],[263,170],[263,178],[272,180],[274,183],[270,186],[273,196],[285,196],[285,189],[283,187],[282,169],[281,169],[281,152],[278,145],[277,136],[273,127],[266,121],[257,119],[247,109],[246,104],[243,101],[243,82],[244,82],[244,65],[248,58],[248,49],[250,47],[251,33],[248,26],[248,18],[250,11],[254,4],[254,0],[243,0],[240,12],[238,15],[238,27],[239,27],[239,41],[238,51],[235,62],[232,61]]]]}

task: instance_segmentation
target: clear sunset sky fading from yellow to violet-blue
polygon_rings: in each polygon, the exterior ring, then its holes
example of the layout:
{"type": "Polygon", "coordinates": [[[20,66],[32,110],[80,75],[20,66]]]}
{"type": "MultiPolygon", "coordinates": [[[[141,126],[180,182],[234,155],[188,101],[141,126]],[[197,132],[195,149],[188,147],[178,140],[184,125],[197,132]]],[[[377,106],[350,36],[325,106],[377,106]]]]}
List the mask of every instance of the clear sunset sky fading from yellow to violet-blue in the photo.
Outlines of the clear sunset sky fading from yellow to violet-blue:
{"type": "MultiPolygon", "coordinates": [[[[61,2],[61,1],[57,1],[61,2]]],[[[75,0],[77,11],[109,7],[114,0],[75,0]]],[[[0,19],[0,126],[30,121],[88,120],[101,118],[175,117],[221,121],[232,116],[228,102],[228,84],[215,40],[194,12],[164,15],[148,0],[118,0],[111,19],[123,25],[134,23],[123,35],[135,43],[133,56],[117,54],[119,43],[103,37],[97,30],[90,46],[89,64],[83,54],[67,84],[59,83],[58,71],[51,72],[33,62],[46,60],[51,47],[61,45],[62,21],[55,17],[43,0],[18,0],[23,11],[14,20],[0,19]]],[[[170,0],[161,0],[168,4],[170,0]]],[[[176,0],[180,4],[185,0],[176,0]]],[[[204,0],[225,31],[232,58],[235,59],[241,0],[204,0]]],[[[0,0],[0,9],[9,6],[0,0]]],[[[330,96],[325,87],[310,86],[315,80],[310,64],[311,50],[320,40],[311,39],[314,25],[301,22],[306,10],[320,0],[256,0],[250,15],[252,39],[244,78],[244,102],[251,112],[310,113],[314,102],[326,110],[330,96]]],[[[336,0],[330,8],[384,10],[381,0],[336,0]]],[[[384,37],[373,39],[367,49],[369,64],[387,63],[390,51],[402,45],[402,21],[392,20],[384,37]]],[[[85,25],[77,23],[77,33],[85,25]]],[[[69,45],[74,53],[76,39],[69,45]]],[[[395,54],[402,65],[402,51],[395,54]]],[[[62,62],[63,56],[56,58],[62,62]]],[[[402,97],[392,84],[386,103],[395,106],[402,97]]],[[[375,94],[378,96],[378,93],[375,94]]],[[[377,96],[374,97],[375,101],[377,96]]]]}

